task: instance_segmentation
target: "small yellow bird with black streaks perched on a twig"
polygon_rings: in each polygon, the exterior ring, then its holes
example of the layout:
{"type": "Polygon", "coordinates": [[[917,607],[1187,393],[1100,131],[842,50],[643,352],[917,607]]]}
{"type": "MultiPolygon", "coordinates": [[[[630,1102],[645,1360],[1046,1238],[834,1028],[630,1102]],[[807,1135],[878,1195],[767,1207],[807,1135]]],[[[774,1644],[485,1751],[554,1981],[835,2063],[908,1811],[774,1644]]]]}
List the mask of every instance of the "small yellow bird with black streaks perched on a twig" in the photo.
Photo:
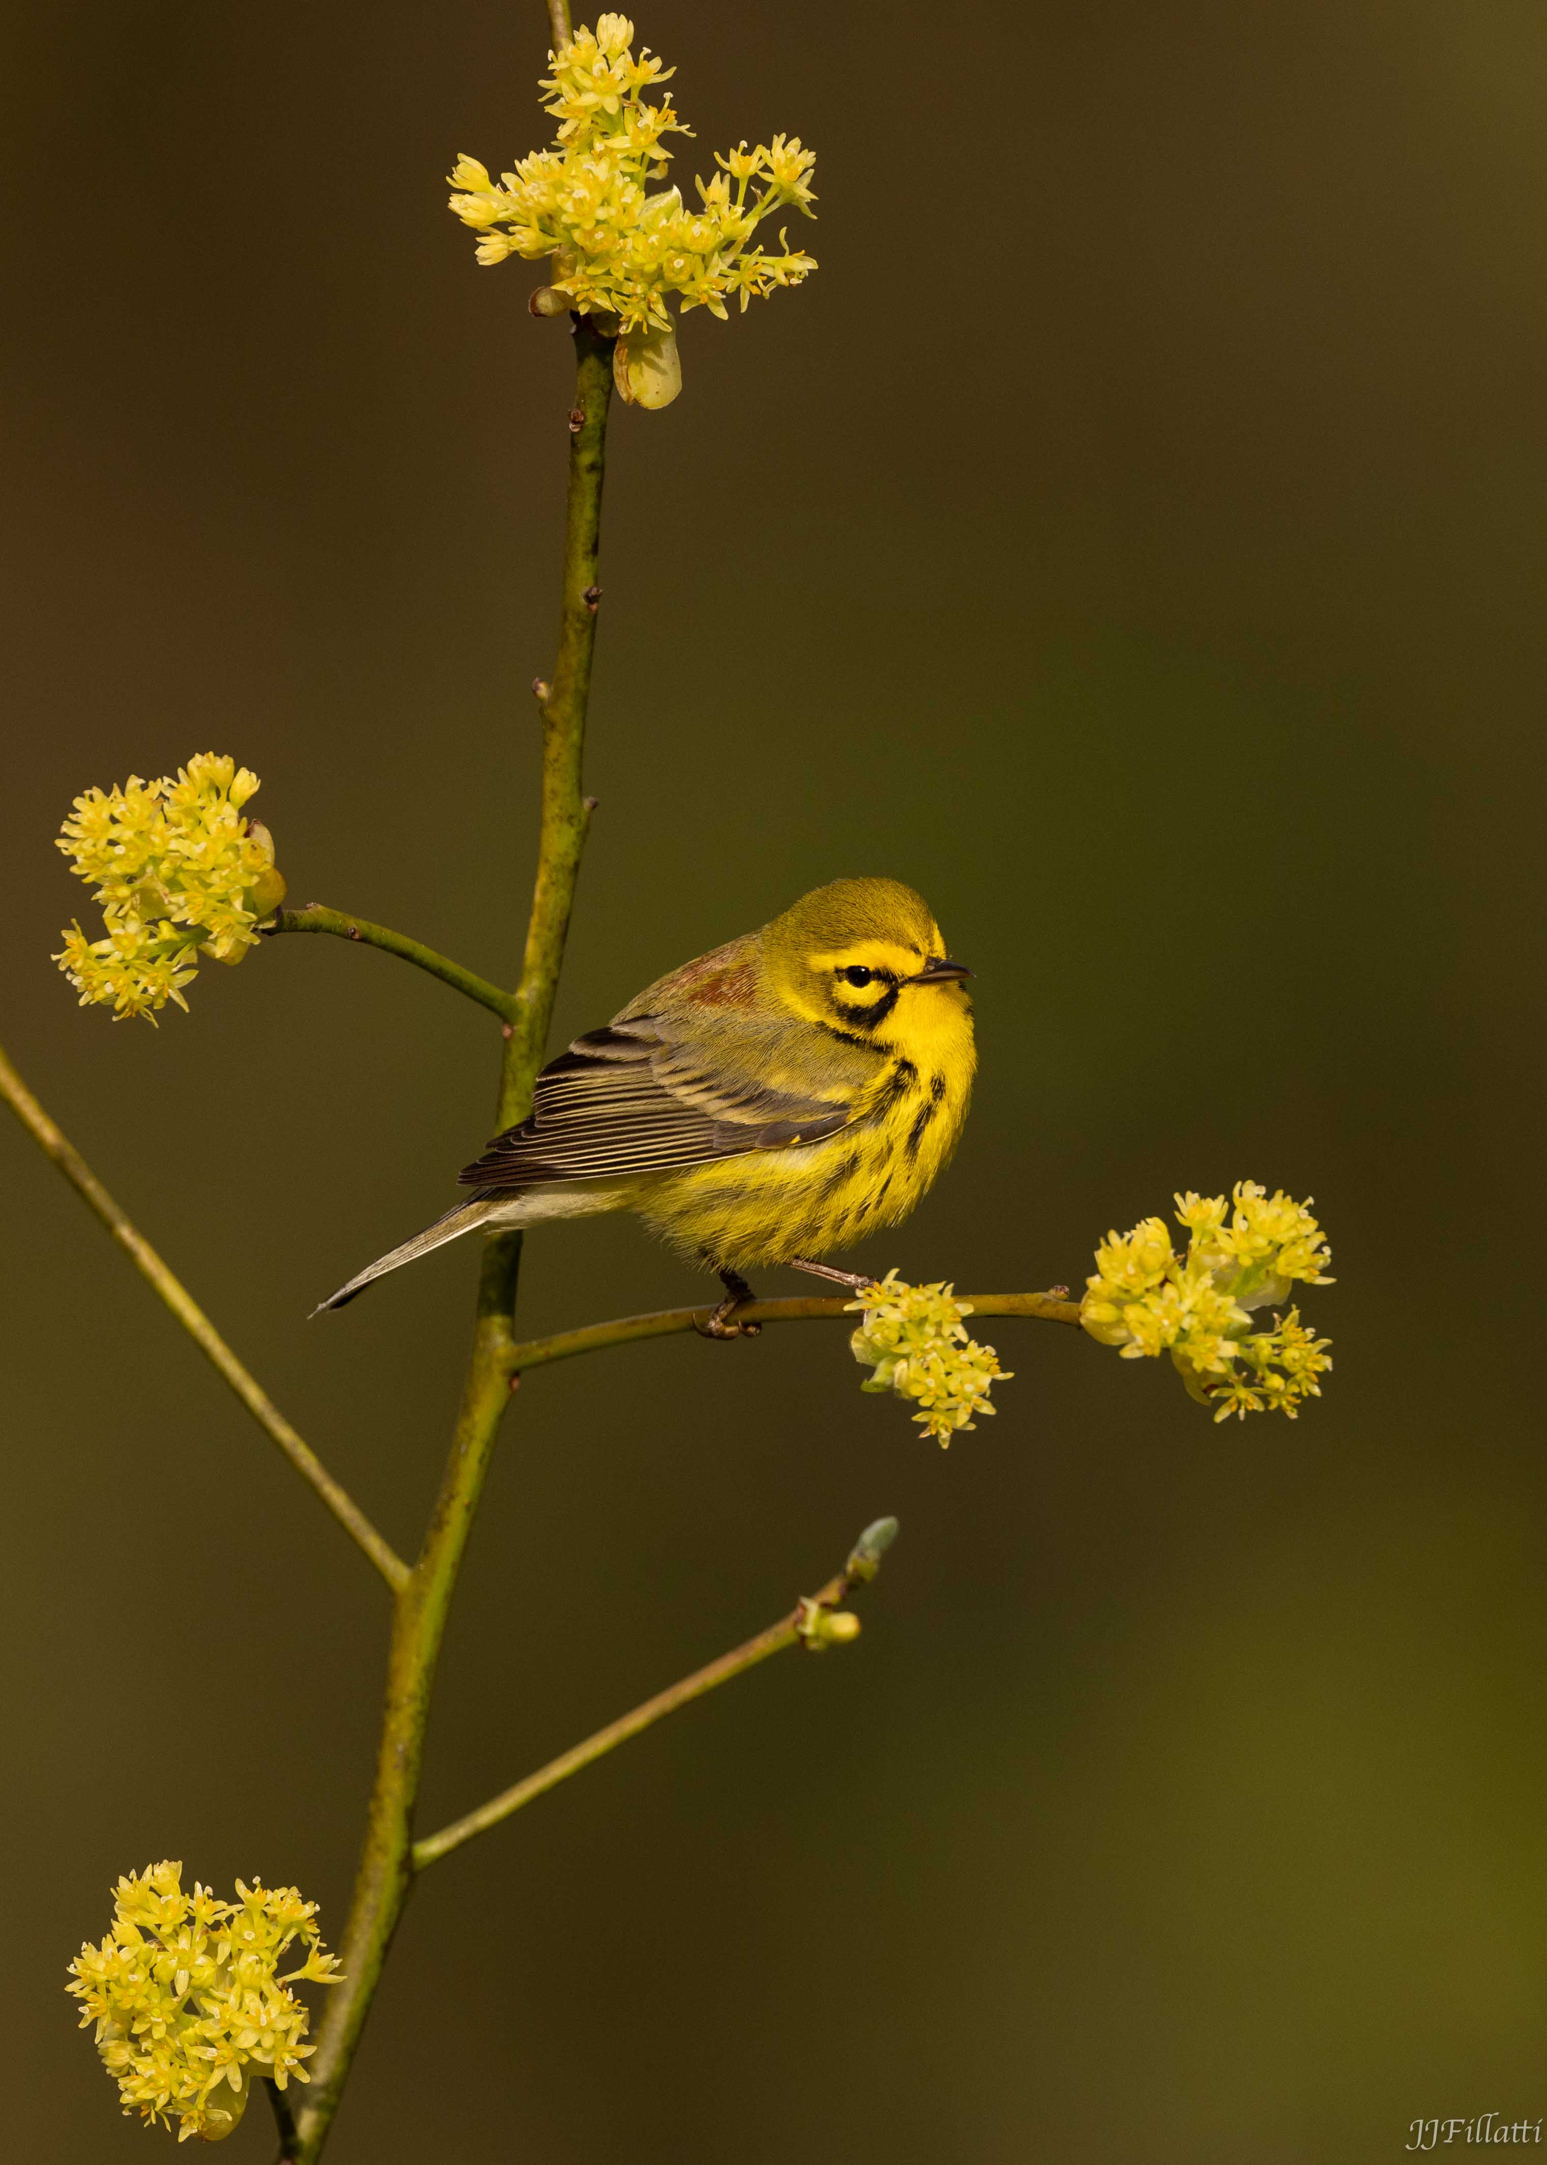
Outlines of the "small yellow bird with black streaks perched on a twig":
{"type": "Polygon", "coordinates": [[[819,1258],[908,1217],[951,1156],[973,1091],[971,976],[897,879],[834,879],[782,918],[659,979],[537,1076],[531,1117],[459,1176],[474,1202],[323,1301],[442,1241],[637,1210],[719,1273],[704,1329],[734,1338],[743,1271],[819,1258]]]}

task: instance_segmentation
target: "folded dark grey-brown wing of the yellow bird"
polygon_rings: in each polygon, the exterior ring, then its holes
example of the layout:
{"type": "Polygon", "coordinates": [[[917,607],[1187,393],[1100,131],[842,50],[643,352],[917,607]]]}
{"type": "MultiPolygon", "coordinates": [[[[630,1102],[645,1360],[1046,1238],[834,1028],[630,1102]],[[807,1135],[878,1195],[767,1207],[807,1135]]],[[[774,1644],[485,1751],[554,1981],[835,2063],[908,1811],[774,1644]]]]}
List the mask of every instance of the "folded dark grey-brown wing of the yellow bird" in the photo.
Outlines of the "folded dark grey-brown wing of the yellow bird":
{"type": "Polygon", "coordinates": [[[815,1143],[851,1119],[854,1104],[771,1089],[743,1063],[706,1059],[667,1018],[624,1011],[544,1067],[531,1119],[459,1180],[492,1191],[665,1173],[815,1143]]]}

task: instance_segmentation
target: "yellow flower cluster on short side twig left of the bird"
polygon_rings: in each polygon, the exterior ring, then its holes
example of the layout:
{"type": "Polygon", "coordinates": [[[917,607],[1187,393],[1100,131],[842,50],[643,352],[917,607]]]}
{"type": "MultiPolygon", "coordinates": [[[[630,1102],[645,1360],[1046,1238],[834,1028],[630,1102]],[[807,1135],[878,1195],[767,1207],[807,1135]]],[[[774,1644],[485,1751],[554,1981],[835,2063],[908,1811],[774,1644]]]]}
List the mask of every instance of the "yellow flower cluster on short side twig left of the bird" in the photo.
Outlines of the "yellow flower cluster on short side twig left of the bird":
{"type": "Polygon", "coordinates": [[[202,751],[176,782],[130,775],[121,790],[76,797],[58,849],[95,883],[104,937],[74,924],[54,961],[82,1007],[154,1022],[167,1000],[186,1009],[195,953],[236,963],[258,944],[253,927],[284,901],[284,879],[269,829],[243,816],[256,790],[258,775],[202,751]]]}

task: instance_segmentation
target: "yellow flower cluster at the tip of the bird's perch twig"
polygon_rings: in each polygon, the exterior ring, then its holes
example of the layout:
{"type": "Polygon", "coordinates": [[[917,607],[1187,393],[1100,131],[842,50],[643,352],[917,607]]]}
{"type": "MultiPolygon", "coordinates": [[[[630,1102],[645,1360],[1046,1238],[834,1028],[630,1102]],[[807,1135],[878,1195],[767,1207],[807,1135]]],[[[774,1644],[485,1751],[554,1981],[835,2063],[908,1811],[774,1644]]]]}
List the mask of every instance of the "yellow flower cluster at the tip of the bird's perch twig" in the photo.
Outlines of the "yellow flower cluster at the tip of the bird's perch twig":
{"type": "Polygon", "coordinates": [[[1332,1256],[1309,1202],[1237,1180],[1228,1197],[1179,1195],[1176,1221],[1187,1228],[1185,1256],[1164,1219],[1107,1234],[1079,1321],[1124,1360],[1170,1353],[1216,1420],[1261,1412],[1294,1420],[1304,1399],[1322,1396],[1330,1340],[1313,1338],[1298,1308],[1276,1316],[1272,1331],[1252,1331],[1252,1310],[1283,1305],[1296,1280],[1332,1284],[1332,1256]]]}

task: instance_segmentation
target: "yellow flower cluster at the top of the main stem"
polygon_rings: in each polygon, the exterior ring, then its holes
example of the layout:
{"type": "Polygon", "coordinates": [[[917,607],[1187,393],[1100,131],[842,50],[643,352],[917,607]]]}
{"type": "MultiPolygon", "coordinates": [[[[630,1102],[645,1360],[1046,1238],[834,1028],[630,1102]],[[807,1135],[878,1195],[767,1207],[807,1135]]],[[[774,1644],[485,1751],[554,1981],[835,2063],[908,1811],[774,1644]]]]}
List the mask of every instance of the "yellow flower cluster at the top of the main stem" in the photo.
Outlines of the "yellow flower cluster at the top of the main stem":
{"type": "Polygon", "coordinates": [[[650,104],[644,91],[676,74],[648,48],[633,54],[635,26],[626,15],[598,15],[596,30],[578,28],[550,54],[552,76],[542,80],[542,104],[557,119],[555,149],[520,158],[514,173],[490,180],[477,158],[457,158],[448,175],[457,191],[451,208],[479,238],[479,262],[507,255],[552,255],[552,297],[542,312],[574,307],[598,318],[604,333],[620,331],[613,379],[624,398],[670,405],[682,377],[667,294],[682,312],[708,307],[778,286],[797,286],[817,264],[750,245],[756,227],[782,206],[812,212],[808,175],[815,152],[800,139],[774,136],[748,149],[741,143],[717,156],[719,171],[698,186],[689,210],[678,188],[656,188],[670,152],[663,136],[691,134],[667,91],[650,104]]]}

